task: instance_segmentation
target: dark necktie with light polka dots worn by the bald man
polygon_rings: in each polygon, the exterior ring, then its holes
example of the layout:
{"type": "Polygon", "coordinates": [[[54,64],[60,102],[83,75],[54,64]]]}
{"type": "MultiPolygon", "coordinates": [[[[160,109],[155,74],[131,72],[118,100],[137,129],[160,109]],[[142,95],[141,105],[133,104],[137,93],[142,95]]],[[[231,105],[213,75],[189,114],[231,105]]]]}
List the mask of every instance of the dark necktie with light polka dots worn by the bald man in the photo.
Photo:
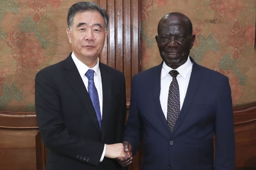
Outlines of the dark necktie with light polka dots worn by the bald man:
{"type": "Polygon", "coordinates": [[[172,132],[180,114],[180,89],[178,81],[176,79],[179,72],[176,70],[171,70],[169,74],[171,74],[172,76],[172,82],[170,84],[168,94],[167,123],[172,132]]]}

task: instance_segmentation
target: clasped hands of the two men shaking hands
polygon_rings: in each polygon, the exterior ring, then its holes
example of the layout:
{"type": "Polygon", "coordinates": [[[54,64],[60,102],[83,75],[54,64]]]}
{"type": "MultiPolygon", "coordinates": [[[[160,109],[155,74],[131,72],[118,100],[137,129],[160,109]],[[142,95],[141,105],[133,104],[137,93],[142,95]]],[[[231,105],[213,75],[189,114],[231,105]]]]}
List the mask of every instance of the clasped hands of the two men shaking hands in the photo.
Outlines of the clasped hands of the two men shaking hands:
{"type": "Polygon", "coordinates": [[[115,159],[122,167],[126,167],[132,162],[131,151],[131,144],[127,141],[117,144],[106,144],[105,157],[115,159]]]}

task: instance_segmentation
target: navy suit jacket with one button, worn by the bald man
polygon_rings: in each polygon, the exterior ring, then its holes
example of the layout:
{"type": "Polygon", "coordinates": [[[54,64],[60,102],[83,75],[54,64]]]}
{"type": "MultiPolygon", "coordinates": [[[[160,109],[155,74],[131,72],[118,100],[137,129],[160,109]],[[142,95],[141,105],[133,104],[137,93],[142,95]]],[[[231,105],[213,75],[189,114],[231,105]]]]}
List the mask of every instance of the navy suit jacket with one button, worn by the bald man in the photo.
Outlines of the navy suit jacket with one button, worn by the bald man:
{"type": "Polygon", "coordinates": [[[131,143],[135,154],[143,138],[143,170],[235,169],[229,80],[190,59],[193,62],[192,74],[172,132],[160,105],[163,63],[133,77],[130,111],[123,140],[131,143]]]}

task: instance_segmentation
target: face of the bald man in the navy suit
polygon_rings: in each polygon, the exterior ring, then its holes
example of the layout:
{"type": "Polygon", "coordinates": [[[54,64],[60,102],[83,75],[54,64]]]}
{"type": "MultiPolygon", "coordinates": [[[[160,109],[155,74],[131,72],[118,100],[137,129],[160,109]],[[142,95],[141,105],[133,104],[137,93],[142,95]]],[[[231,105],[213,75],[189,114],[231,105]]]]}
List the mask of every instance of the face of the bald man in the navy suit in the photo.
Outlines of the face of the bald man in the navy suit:
{"type": "Polygon", "coordinates": [[[156,41],[163,61],[176,69],[187,61],[195,35],[189,33],[187,20],[183,16],[173,15],[160,21],[156,41]]]}

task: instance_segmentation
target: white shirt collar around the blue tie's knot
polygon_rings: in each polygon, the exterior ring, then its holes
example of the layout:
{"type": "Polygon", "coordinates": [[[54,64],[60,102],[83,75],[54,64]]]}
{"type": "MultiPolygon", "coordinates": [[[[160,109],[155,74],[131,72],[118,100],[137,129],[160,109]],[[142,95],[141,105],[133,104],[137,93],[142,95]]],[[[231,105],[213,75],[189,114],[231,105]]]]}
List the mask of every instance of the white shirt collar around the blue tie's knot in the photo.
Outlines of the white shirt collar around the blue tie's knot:
{"type": "Polygon", "coordinates": [[[97,58],[97,64],[93,68],[89,68],[83,62],[81,62],[78,58],[76,58],[74,52],[72,52],[71,57],[72,57],[73,61],[75,62],[75,65],[76,65],[81,77],[83,77],[84,74],[89,69],[92,69],[96,73],[97,77],[101,80],[101,74],[100,74],[100,69],[99,69],[99,58],[97,58]]]}

